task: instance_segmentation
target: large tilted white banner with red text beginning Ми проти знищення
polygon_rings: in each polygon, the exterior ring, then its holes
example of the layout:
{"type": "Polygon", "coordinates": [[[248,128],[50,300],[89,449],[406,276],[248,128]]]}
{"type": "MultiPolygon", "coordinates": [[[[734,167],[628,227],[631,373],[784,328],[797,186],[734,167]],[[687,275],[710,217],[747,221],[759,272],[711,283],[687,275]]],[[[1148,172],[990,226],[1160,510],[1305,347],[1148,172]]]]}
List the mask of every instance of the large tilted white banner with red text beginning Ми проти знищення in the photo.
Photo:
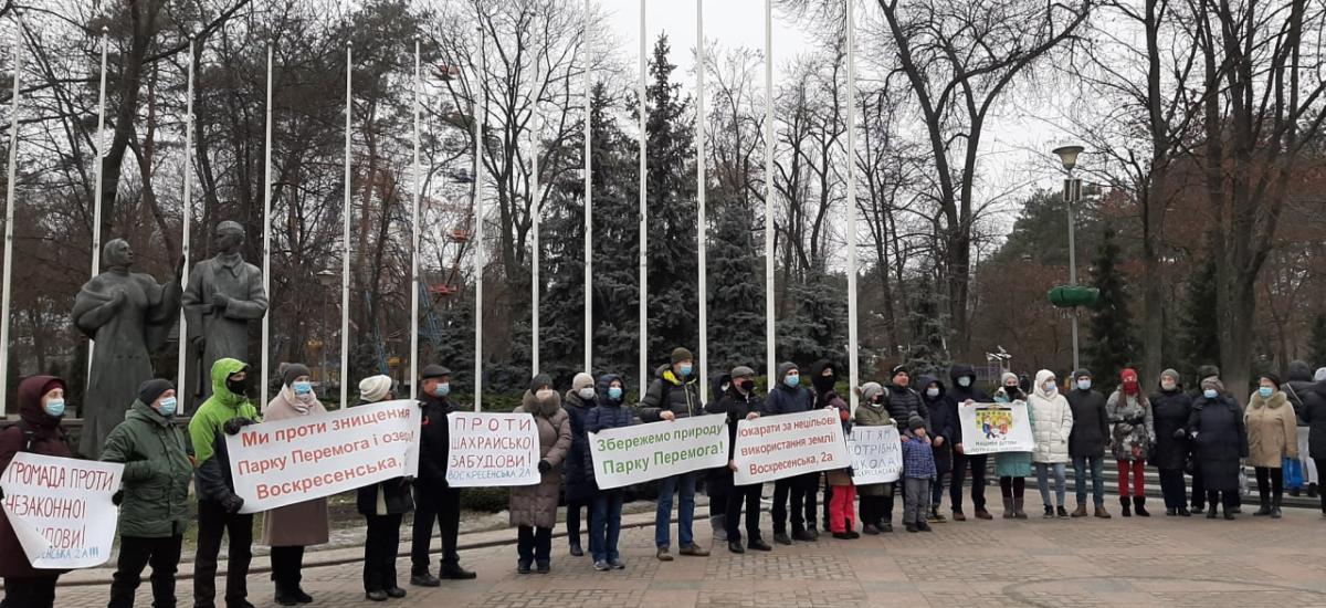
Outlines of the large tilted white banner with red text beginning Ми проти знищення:
{"type": "Polygon", "coordinates": [[[225,437],[240,512],[260,512],[419,470],[411,400],[263,422],[225,437]]]}

